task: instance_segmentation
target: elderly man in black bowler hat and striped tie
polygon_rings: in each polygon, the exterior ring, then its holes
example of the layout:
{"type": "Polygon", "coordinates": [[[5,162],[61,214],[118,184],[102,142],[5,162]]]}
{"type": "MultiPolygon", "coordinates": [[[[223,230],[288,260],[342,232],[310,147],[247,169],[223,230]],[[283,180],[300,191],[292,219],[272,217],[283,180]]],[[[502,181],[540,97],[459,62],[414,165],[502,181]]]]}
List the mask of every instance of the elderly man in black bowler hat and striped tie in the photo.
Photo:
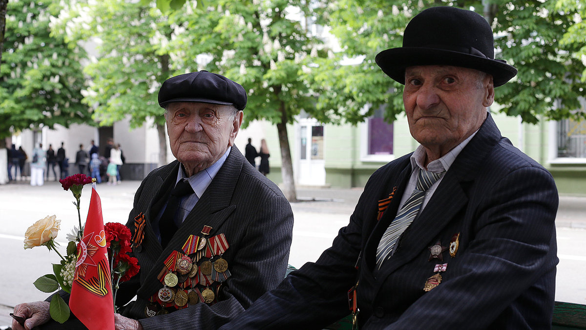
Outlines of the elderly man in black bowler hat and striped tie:
{"type": "Polygon", "coordinates": [[[500,135],[487,107],[517,70],[482,16],[426,9],[403,47],[376,56],[405,85],[412,154],[376,171],[350,223],[221,329],[547,329],[556,277],[556,186],[500,135]]]}

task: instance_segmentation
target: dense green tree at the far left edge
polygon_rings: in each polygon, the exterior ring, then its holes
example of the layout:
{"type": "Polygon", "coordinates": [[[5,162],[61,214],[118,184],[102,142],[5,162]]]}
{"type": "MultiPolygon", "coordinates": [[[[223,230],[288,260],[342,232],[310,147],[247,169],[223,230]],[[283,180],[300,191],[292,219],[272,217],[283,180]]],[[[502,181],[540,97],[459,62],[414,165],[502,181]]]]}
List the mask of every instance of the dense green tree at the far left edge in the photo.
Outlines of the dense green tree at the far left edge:
{"type": "Polygon", "coordinates": [[[0,139],[12,130],[91,123],[81,104],[86,79],[82,48],[52,33],[50,18],[60,7],[51,0],[13,0],[6,16],[0,67],[0,139]]]}

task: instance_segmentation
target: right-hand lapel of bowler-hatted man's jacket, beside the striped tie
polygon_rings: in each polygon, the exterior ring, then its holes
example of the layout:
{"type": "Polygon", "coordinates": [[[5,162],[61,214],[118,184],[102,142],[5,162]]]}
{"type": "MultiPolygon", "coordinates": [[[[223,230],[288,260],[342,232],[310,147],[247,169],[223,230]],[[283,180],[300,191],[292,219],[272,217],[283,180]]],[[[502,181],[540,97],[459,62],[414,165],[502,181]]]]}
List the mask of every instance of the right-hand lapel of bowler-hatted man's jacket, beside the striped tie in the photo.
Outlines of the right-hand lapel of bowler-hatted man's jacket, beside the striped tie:
{"type": "Polygon", "coordinates": [[[456,214],[468,203],[468,187],[478,176],[478,169],[499,139],[500,132],[488,115],[478,133],[456,157],[421,214],[407,228],[396,254],[384,262],[380,274],[388,276],[401,265],[413,260],[440,235],[445,225],[454,220],[456,214]]]}

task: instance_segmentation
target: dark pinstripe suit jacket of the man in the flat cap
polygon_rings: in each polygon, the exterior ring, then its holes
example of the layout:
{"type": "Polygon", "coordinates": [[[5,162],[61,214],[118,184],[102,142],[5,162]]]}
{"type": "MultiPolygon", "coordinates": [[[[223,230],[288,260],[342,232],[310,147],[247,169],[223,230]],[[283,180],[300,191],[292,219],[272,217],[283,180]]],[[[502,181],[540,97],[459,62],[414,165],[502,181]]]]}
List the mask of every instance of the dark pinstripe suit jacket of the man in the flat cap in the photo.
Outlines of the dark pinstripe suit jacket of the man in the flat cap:
{"type": "MultiPolygon", "coordinates": [[[[281,190],[255,170],[233,146],[226,162],[165,249],[152,231],[154,205],[165,200],[175,184],[179,162],[152,171],[134,198],[128,227],[144,213],[147,220],[141,247],[134,250],[141,271],[123,283],[118,305],[137,295],[124,315],[140,319],[145,329],[216,329],[248,308],[265,291],[277,287],[285,276],[291,246],[293,214],[281,190]],[[210,236],[224,233],[230,247],[223,254],[231,277],[220,289],[217,304],[195,306],[145,318],[148,298],[162,288],[157,275],[163,261],[181,249],[190,234],[200,234],[204,225],[213,227],[210,236]]],[[[117,297],[117,298],[118,298],[117,297]]]]}

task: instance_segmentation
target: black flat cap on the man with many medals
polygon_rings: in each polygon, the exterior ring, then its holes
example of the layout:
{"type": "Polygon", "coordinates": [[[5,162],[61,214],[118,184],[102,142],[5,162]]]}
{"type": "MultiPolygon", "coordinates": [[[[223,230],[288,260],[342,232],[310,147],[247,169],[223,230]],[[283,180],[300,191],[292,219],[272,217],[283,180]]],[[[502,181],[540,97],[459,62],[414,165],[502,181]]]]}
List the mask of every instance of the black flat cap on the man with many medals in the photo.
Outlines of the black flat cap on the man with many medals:
{"type": "Polygon", "coordinates": [[[246,107],[246,91],[239,83],[205,70],[171,77],[159,89],[159,106],[172,102],[203,102],[246,107]]]}

